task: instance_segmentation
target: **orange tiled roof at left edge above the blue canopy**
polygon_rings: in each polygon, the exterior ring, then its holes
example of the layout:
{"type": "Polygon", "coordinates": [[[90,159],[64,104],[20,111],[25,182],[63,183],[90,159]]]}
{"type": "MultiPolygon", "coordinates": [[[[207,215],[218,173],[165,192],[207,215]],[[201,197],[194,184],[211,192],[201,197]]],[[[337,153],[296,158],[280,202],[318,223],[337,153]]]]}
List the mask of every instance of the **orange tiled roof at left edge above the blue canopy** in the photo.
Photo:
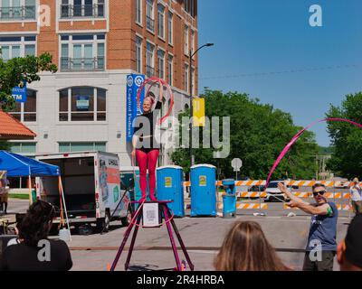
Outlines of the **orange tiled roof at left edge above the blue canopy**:
{"type": "Polygon", "coordinates": [[[35,133],[16,118],[0,110],[0,139],[33,139],[35,133]]]}

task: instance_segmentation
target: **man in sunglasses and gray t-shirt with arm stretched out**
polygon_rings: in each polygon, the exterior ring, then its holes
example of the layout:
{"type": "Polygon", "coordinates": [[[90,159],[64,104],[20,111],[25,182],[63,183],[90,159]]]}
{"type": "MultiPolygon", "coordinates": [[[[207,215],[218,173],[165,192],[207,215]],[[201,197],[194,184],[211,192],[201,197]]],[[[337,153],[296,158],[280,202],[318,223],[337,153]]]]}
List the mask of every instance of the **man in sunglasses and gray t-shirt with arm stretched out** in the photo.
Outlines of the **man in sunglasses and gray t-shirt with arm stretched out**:
{"type": "Polygon", "coordinates": [[[314,204],[294,196],[282,183],[279,183],[278,188],[290,199],[287,203],[289,207],[299,208],[312,215],[303,271],[333,271],[337,251],[338,208],[324,196],[326,187],[321,183],[313,185],[314,204]]]}

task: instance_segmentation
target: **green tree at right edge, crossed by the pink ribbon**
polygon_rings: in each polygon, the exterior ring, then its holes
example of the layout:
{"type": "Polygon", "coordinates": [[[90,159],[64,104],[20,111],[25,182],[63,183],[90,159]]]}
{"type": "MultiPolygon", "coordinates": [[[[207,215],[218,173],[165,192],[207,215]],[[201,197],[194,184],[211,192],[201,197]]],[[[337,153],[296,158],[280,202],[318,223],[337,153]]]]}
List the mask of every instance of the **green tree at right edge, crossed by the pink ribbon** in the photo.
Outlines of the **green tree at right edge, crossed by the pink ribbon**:
{"type": "MultiPolygon", "coordinates": [[[[362,124],[362,93],[346,96],[340,107],[330,105],[327,117],[362,124]]],[[[328,169],[348,179],[362,176],[362,129],[344,122],[329,122],[328,131],[334,147],[328,169]]]]}

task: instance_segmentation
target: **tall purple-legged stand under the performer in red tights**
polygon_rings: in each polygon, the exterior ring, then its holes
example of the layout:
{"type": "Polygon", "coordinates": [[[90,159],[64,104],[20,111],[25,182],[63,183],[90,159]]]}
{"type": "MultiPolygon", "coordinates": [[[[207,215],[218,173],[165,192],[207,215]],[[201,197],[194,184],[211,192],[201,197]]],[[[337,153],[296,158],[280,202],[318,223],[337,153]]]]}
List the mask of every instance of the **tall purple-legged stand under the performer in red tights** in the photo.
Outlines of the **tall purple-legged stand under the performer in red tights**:
{"type": "MultiPolygon", "coordinates": [[[[134,231],[133,231],[133,236],[132,236],[132,240],[130,242],[130,246],[129,246],[129,255],[127,256],[127,260],[125,263],[125,270],[127,271],[129,269],[129,262],[130,262],[130,258],[132,256],[132,252],[133,252],[133,248],[135,246],[135,242],[136,242],[136,238],[137,238],[137,234],[138,234],[138,228],[140,227],[140,222],[143,216],[143,204],[144,203],[155,203],[157,202],[158,204],[158,208],[159,211],[161,211],[164,215],[165,218],[165,223],[167,226],[167,232],[168,232],[168,236],[170,238],[171,241],[171,246],[172,246],[172,250],[174,252],[174,256],[175,256],[175,260],[176,260],[176,271],[182,271],[183,267],[181,266],[181,262],[180,262],[180,258],[178,256],[178,252],[177,252],[177,247],[176,247],[176,242],[175,242],[175,238],[174,238],[174,234],[172,232],[172,228],[174,229],[176,238],[178,240],[178,243],[180,244],[180,247],[182,249],[182,251],[184,252],[184,255],[186,257],[186,261],[188,266],[190,267],[191,271],[194,271],[194,265],[191,262],[190,257],[188,256],[184,241],[181,238],[181,235],[176,227],[174,218],[169,210],[169,208],[167,207],[167,203],[172,202],[173,200],[157,200],[157,201],[132,201],[132,203],[134,204],[138,204],[138,210],[136,211],[134,217],[132,218],[129,227],[127,228],[122,243],[120,244],[119,250],[117,252],[117,256],[115,257],[112,266],[110,267],[110,271],[114,271],[118,262],[119,262],[119,257],[123,252],[124,247],[126,246],[127,240],[129,239],[129,235],[132,231],[132,228],[135,227],[134,231]],[[136,222],[135,222],[136,220],[136,222]]],[[[162,224],[159,224],[159,226],[155,227],[155,228],[159,228],[161,227],[162,224]]]]}

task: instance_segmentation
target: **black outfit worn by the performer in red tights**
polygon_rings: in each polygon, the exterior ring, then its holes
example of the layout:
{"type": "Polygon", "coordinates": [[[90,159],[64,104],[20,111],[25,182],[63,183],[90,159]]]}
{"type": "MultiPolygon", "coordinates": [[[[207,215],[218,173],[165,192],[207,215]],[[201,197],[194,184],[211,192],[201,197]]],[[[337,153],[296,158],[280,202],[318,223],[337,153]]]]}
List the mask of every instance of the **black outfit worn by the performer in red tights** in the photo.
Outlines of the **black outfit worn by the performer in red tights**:
{"type": "Polygon", "coordinates": [[[138,135],[137,149],[142,151],[149,151],[152,149],[159,149],[159,145],[155,139],[155,126],[157,121],[157,115],[162,107],[162,102],[157,101],[154,110],[147,114],[142,114],[136,117],[134,121],[134,133],[138,135]]]}

